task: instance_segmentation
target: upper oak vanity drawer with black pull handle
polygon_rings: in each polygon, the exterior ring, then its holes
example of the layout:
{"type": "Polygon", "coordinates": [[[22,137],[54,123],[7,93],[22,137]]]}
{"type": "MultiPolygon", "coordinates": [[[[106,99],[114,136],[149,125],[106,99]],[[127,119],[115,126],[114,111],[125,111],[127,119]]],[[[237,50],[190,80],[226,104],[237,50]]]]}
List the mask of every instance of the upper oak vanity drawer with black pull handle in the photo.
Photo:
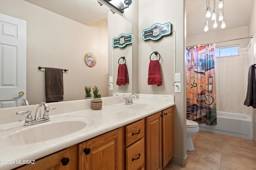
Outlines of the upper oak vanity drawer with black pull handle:
{"type": "Polygon", "coordinates": [[[144,138],[144,119],[125,127],[125,145],[132,145],[134,142],[144,138]]]}

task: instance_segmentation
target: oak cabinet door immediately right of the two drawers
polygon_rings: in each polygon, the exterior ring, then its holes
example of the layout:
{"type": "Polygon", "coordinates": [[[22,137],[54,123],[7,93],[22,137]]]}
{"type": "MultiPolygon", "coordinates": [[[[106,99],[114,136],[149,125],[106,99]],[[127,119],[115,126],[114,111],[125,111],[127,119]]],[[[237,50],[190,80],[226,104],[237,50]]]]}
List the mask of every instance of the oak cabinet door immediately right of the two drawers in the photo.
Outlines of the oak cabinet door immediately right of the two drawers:
{"type": "Polygon", "coordinates": [[[146,117],[146,170],[162,169],[162,112],[146,117]]]}

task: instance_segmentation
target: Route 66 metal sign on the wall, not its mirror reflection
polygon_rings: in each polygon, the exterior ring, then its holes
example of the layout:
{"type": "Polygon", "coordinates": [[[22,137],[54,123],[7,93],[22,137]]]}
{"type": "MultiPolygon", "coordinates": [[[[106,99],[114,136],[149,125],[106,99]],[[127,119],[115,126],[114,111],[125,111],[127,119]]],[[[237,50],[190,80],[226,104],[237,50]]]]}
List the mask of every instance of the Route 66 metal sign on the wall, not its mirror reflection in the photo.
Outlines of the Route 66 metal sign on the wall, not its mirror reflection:
{"type": "Polygon", "coordinates": [[[143,40],[152,39],[157,41],[161,39],[163,36],[172,34],[172,24],[170,22],[161,25],[160,23],[156,23],[152,25],[149,29],[143,30],[143,40]]]}

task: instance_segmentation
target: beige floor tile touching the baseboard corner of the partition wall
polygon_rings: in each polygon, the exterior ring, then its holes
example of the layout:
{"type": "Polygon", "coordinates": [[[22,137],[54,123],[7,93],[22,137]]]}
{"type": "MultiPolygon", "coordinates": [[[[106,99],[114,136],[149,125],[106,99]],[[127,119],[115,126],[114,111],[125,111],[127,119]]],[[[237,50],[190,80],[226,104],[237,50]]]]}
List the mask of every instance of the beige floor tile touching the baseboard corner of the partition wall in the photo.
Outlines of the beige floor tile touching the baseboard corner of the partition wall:
{"type": "Polygon", "coordinates": [[[193,158],[203,162],[208,162],[220,166],[221,151],[207,149],[205,147],[194,146],[194,151],[187,151],[188,161],[193,158]]]}

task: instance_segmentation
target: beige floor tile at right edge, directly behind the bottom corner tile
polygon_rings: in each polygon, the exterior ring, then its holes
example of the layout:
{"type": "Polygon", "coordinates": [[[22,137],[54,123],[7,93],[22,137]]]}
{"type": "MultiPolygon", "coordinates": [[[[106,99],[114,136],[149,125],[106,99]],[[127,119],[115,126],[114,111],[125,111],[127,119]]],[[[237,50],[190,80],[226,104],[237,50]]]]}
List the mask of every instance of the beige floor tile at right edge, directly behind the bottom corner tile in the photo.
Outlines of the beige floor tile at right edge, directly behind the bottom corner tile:
{"type": "MultiPolygon", "coordinates": [[[[224,143],[222,147],[222,153],[232,154],[234,156],[240,156],[242,158],[256,161],[256,148],[247,148],[238,145],[231,145],[224,143]]],[[[255,165],[256,166],[256,165],[255,165]]]]}

